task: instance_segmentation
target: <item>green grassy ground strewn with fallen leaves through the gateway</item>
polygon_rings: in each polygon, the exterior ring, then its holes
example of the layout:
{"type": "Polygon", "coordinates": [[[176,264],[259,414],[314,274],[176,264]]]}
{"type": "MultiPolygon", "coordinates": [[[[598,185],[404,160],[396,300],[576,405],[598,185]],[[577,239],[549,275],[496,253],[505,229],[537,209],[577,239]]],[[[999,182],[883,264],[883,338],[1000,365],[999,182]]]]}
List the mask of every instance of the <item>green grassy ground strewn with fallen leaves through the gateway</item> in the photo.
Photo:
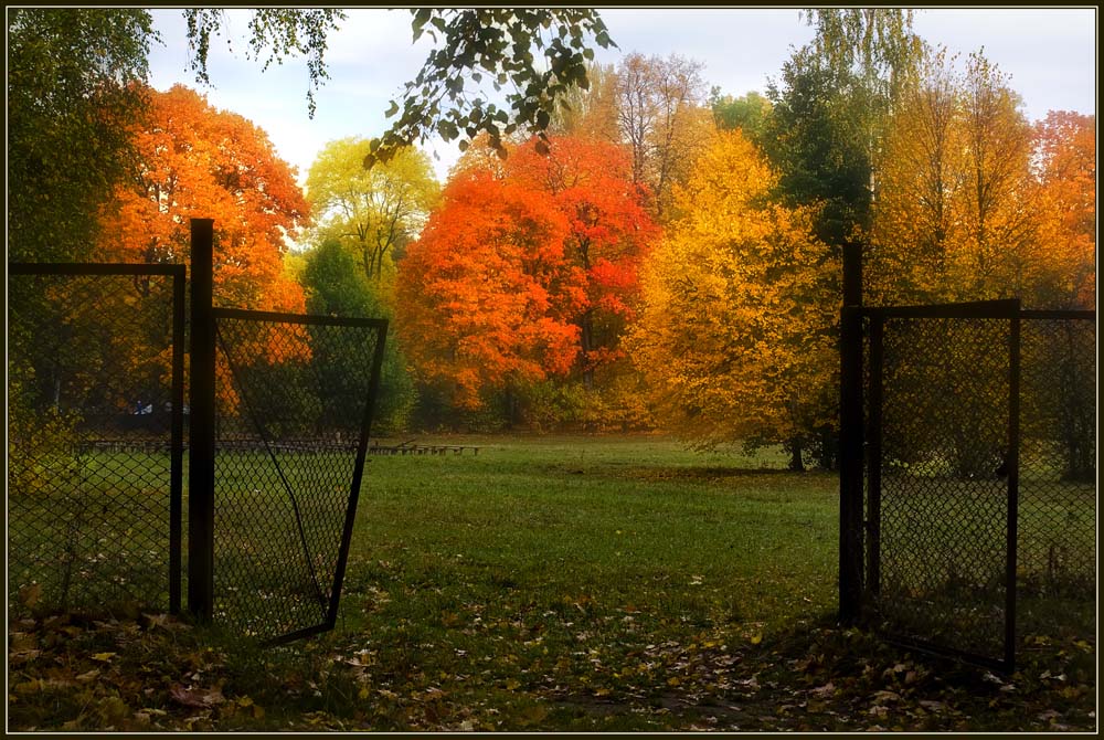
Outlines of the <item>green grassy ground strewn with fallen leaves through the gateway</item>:
{"type": "Polygon", "coordinates": [[[332,633],[15,621],[10,729],[1095,727],[1081,635],[997,678],[838,628],[835,475],[650,436],[448,442],[481,448],[370,458],[332,633]]]}

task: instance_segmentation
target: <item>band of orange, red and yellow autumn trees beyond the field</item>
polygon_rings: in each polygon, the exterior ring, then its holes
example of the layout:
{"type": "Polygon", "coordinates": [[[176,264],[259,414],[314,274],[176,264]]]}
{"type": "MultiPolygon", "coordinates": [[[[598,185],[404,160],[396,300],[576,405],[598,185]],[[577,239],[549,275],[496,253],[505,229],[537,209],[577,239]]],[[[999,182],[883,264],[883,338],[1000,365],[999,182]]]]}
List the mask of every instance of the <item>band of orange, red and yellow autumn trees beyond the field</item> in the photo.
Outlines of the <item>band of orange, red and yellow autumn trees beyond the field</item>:
{"type": "Polygon", "coordinates": [[[476,136],[443,186],[349,138],[304,192],[241,116],[147,91],[72,256],[184,262],[214,218],[216,300],[392,319],[383,433],[665,429],[831,466],[843,245],[871,304],[1093,306],[1095,116],[1027,120],[904,11],[809,20],[762,94],[680,56],[592,65],[544,136],[476,136]]]}

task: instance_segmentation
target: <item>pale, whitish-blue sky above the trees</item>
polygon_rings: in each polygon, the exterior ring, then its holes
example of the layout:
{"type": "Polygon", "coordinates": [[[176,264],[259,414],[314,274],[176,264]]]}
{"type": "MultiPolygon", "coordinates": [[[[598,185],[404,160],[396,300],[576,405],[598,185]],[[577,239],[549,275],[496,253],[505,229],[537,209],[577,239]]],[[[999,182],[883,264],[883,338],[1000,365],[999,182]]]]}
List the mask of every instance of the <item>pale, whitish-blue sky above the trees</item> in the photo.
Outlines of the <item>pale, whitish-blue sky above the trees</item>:
{"type": "MultiPolygon", "coordinates": [[[[601,15],[619,46],[597,51],[597,61],[616,64],[626,53],[646,56],[679,54],[704,64],[707,88],[725,94],[765,92],[783,62],[811,39],[797,9],[607,9],[601,15]]],[[[152,11],[164,45],[150,54],[153,87],[183,83],[208,96],[212,105],[233,110],[263,128],[279,155],[299,172],[302,182],[315,156],[327,141],[347,136],[370,138],[388,126],[389,101],[422,67],[428,41],[411,43],[411,13],[406,10],[349,10],[348,19],[329,39],[326,62],[330,80],[316,94],[317,112],[307,114],[307,66],[301,57],[262,73],[247,59],[248,11],[230,11],[233,54],[225,36],[212,42],[210,72],[213,87],[204,87],[187,72],[188,46],[180,10],[152,11]]],[[[967,9],[917,10],[913,30],[927,42],[945,45],[965,57],[984,47],[986,57],[1011,75],[1011,87],[1023,98],[1028,118],[1048,110],[1096,112],[1096,9],[967,9]]],[[[456,160],[454,145],[437,141],[425,147],[436,154],[444,180],[456,160]]]]}

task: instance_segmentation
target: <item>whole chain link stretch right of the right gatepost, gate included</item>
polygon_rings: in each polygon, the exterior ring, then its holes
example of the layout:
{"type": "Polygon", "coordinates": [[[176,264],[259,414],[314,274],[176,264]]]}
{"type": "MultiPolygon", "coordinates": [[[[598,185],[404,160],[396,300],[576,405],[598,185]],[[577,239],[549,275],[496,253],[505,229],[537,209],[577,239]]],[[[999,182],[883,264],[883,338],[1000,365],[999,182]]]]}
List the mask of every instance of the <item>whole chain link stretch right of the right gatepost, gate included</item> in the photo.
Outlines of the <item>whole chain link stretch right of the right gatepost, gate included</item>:
{"type": "Polygon", "coordinates": [[[866,310],[863,610],[1008,668],[1094,630],[1095,316],[981,306],[866,310]]]}

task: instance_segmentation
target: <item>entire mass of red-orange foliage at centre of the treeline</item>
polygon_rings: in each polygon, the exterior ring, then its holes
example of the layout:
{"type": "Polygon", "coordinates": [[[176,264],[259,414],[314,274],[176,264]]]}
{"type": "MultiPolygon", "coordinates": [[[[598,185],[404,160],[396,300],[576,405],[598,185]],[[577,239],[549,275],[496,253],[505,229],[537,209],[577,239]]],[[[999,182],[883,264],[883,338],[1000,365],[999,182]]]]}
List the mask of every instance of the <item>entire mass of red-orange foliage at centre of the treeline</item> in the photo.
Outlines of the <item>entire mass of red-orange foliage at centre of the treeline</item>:
{"type": "Polygon", "coordinates": [[[403,258],[397,324],[424,381],[481,405],[508,388],[609,361],[656,228],[613,145],[529,142],[501,168],[458,168],[403,258]]]}

